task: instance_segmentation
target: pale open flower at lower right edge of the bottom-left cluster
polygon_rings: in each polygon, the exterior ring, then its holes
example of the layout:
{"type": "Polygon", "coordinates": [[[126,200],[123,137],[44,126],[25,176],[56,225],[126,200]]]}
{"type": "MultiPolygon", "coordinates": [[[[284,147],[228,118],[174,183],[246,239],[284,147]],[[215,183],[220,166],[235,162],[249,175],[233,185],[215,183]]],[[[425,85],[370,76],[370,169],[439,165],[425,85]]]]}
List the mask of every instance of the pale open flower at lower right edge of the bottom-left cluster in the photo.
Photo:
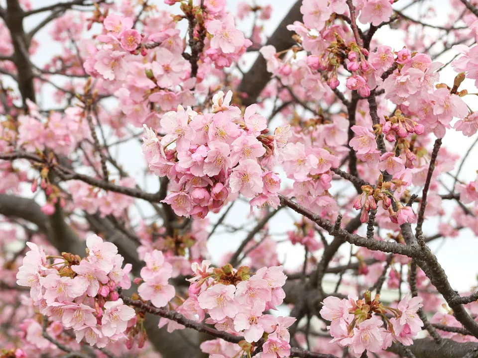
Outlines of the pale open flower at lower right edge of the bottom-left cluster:
{"type": "Polygon", "coordinates": [[[134,309],[123,304],[119,298],[117,301],[105,303],[105,312],[101,319],[101,331],[106,337],[123,333],[126,330],[128,321],[134,317],[134,309]]]}

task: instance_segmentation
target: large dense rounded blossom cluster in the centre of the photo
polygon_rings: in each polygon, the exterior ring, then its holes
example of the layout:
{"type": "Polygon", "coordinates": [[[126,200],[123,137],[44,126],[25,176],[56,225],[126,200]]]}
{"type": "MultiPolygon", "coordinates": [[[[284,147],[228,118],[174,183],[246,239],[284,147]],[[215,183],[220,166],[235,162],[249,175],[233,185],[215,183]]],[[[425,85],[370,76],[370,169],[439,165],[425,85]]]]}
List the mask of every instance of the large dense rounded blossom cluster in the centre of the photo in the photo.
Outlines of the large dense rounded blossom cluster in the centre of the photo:
{"type": "Polygon", "coordinates": [[[222,91],[215,94],[212,113],[182,106],[165,113],[163,136],[145,128],[143,154],[154,174],[170,179],[163,202],[179,216],[204,218],[237,193],[251,198],[251,206],[279,204],[281,179],[264,167],[283,160],[289,127],[266,135],[267,121],[255,113],[257,105],[242,114],[230,105],[231,98],[231,91],[225,97],[222,91]]]}

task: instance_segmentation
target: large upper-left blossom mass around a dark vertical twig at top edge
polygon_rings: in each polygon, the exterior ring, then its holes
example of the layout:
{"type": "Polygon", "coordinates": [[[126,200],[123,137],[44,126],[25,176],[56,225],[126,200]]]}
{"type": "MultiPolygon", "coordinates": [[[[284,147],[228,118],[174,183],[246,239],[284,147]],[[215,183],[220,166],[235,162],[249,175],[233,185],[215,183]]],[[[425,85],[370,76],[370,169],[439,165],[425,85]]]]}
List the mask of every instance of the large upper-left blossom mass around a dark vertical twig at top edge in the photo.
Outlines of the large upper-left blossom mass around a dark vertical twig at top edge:
{"type": "Polygon", "coordinates": [[[85,70],[115,92],[121,110],[134,125],[156,125],[157,112],[179,104],[194,105],[193,90],[204,90],[195,86],[208,69],[230,67],[252,44],[226,13],[226,1],[206,1],[204,8],[198,5],[182,3],[183,15],[162,11],[146,22],[142,32],[133,28],[128,16],[107,11],[93,18],[103,24],[104,33],[96,38],[98,48],[88,48],[85,70]],[[191,54],[184,52],[184,39],[176,28],[182,18],[190,26],[195,24],[192,30],[199,38],[191,54]]]}

